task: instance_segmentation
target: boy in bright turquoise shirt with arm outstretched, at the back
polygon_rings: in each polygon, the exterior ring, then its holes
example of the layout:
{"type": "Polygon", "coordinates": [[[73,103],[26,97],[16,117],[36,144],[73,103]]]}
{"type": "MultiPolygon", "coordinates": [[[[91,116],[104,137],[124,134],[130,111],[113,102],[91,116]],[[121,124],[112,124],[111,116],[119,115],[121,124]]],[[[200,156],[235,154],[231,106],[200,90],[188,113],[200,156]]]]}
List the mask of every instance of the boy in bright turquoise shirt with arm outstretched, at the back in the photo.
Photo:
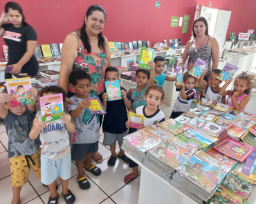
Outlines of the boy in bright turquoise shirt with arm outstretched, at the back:
{"type": "Polygon", "coordinates": [[[176,76],[169,76],[167,74],[163,74],[165,70],[165,59],[162,56],[156,56],[154,58],[155,65],[155,84],[159,84],[163,86],[163,83],[166,81],[176,81],[176,76]]]}

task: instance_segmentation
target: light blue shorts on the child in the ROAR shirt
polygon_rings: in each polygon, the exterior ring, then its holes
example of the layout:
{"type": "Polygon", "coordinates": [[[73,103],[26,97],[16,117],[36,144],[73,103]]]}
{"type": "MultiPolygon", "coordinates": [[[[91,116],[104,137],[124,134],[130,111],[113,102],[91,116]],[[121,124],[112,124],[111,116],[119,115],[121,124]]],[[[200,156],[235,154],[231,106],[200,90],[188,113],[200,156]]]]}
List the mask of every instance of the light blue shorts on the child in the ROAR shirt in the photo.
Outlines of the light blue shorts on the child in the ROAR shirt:
{"type": "Polygon", "coordinates": [[[60,176],[63,180],[71,177],[71,154],[63,159],[51,160],[41,154],[41,182],[50,185],[60,176]]]}

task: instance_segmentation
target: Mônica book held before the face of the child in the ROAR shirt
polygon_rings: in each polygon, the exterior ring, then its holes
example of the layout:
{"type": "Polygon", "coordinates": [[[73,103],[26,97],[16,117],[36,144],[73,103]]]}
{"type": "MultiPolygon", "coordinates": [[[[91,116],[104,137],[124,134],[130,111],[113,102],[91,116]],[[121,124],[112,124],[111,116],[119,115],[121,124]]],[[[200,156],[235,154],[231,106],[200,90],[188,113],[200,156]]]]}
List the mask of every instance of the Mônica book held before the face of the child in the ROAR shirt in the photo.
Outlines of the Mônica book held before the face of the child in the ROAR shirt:
{"type": "Polygon", "coordinates": [[[39,98],[42,121],[51,122],[59,120],[64,115],[63,96],[54,94],[39,98]]]}

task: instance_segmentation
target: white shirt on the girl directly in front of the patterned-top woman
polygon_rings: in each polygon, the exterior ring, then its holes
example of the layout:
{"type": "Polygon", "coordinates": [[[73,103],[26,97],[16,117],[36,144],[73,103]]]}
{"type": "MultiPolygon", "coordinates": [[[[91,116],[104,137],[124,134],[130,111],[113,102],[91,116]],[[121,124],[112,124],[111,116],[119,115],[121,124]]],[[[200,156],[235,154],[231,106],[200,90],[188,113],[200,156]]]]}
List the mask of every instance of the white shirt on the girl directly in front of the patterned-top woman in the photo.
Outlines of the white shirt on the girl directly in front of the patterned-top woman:
{"type": "Polygon", "coordinates": [[[187,99],[181,98],[181,88],[176,88],[176,91],[179,92],[179,96],[174,103],[173,112],[185,112],[191,108],[191,103],[194,100],[194,96],[196,94],[196,90],[194,88],[190,90],[185,90],[185,94],[188,95],[187,99]]]}

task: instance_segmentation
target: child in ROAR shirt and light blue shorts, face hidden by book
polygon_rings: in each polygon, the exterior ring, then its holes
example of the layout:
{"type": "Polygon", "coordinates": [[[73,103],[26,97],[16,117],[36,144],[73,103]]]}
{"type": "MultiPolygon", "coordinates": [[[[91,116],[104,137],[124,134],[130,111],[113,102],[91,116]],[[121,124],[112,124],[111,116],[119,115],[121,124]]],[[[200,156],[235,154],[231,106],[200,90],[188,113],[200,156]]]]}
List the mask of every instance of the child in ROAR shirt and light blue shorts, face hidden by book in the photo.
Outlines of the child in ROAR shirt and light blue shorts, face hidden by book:
{"type": "MultiPolygon", "coordinates": [[[[42,88],[39,96],[51,96],[62,94],[63,103],[66,99],[66,92],[55,85],[42,88]]],[[[68,190],[68,179],[71,177],[71,147],[68,139],[68,131],[73,132],[75,125],[71,123],[71,116],[64,114],[60,119],[46,123],[39,120],[38,116],[33,121],[30,131],[30,139],[40,139],[41,150],[41,181],[48,185],[51,192],[48,203],[57,203],[59,194],[56,190],[56,179],[60,176],[62,183],[62,196],[66,203],[75,202],[75,196],[68,190]]]]}

